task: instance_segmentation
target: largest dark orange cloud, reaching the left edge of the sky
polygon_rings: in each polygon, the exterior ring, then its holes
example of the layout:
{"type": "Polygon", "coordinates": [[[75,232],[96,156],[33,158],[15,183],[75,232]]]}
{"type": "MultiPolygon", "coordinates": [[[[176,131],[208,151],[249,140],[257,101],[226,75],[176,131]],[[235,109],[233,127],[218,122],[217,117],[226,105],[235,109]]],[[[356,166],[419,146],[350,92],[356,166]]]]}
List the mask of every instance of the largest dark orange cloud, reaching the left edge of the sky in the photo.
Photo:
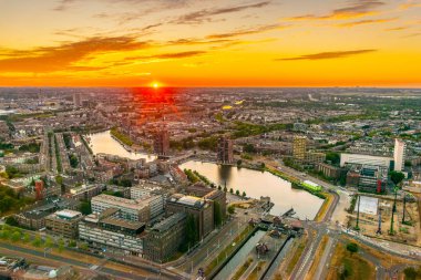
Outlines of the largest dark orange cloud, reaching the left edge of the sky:
{"type": "Polygon", "coordinates": [[[95,54],[141,50],[148,46],[148,42],[138,42],[132,37],[95,37],[78,42],[63,43],[58,46],[19,51],[21,55],[12,55],[12,58],[0,60],[0,71],[38,73],[63,70],[97,70],[99,68],[82,68],[75,65],[75,63],[95,54]]]}

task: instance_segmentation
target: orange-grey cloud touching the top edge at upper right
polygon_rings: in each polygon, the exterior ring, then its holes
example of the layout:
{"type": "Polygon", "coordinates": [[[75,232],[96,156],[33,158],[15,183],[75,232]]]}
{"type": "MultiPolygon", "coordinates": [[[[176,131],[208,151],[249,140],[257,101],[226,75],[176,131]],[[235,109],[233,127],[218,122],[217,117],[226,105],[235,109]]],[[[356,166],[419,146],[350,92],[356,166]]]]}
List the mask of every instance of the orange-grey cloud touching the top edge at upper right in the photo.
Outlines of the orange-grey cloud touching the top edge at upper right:
{"type": "Polygon", "coordinates": [[[360,18],[369,14],[377,13],[377,9],[384,6],[383,1],[379,0],[356,0],[350,6],[345,8],[336,9],[325,15],[316,14],[304,14],[294,18],[289,18],[291,21],[299,20],[340,20],[340,19],[353,19],[360,18]]]}

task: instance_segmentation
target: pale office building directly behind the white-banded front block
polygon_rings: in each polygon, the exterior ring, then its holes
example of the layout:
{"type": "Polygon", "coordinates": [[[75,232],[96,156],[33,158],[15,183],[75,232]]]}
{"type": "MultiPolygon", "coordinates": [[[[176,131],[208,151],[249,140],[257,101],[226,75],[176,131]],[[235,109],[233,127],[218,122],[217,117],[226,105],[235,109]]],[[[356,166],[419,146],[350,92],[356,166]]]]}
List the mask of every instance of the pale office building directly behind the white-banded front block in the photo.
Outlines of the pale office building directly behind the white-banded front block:
{"type": "Polygon", "coordinates": [[[110,195],[99,195],[91,200],[92,212],[100,214],[107,208],[121,210],[121,218],[132,221],[147,222],[151,210],[147,200],[133,200],[110,195]]]}

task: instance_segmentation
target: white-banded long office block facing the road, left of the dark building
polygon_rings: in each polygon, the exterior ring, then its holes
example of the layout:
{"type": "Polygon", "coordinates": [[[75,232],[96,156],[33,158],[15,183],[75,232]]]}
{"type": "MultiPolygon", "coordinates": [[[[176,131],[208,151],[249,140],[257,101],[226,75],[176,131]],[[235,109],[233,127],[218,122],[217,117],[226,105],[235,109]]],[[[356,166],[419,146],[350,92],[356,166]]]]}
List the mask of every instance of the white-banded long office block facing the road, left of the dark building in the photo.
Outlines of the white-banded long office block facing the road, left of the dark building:
{"type": "Polygon", "coordinates": [[[143,255],[145,224],[119,218],[120,210],[109,208],[88,215],[79,222],[79,238],[91,248],[112,253],[143,255]]]}

